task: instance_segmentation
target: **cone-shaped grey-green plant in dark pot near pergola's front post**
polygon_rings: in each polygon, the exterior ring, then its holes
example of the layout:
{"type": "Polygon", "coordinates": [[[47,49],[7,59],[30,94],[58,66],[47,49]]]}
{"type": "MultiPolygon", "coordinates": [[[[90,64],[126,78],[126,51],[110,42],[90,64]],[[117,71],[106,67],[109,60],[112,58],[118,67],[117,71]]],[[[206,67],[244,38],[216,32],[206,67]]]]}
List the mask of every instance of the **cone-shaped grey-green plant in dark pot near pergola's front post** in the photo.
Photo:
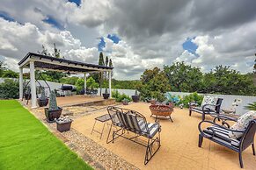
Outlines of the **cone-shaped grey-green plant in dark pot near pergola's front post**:
{"type": "Polygon", "coordinates": [[[55,91],[50,93],[49,107],[45,108],[45,115],[48,122],[55,122],[55,118],[59,118],[62,114],[62,108],[57,106],[55,91]]]}

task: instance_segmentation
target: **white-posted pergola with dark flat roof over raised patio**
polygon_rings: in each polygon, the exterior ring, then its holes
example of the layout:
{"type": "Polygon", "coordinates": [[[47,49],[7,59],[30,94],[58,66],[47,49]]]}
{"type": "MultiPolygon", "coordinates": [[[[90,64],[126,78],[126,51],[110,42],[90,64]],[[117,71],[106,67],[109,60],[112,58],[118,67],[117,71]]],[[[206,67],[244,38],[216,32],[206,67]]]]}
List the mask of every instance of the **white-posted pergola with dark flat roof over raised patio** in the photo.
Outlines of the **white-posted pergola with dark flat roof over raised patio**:
{"type": "Polygon", "coordinates": [[[78,62],[74,60],[59,59],[39,53],[27,53],[26,56],[18,62],[19,66],[19,99],[23,98],[23,68],[30,69],[30,88],[31,88],[31,106],[36,108],[36,80],[35,70],[50,70],[56,72],[83,73],[84,89],[86,89],[86,73],[108,72],[109,94],[111,97],[111,71],[113,67],[99,66],[78,62]]]}

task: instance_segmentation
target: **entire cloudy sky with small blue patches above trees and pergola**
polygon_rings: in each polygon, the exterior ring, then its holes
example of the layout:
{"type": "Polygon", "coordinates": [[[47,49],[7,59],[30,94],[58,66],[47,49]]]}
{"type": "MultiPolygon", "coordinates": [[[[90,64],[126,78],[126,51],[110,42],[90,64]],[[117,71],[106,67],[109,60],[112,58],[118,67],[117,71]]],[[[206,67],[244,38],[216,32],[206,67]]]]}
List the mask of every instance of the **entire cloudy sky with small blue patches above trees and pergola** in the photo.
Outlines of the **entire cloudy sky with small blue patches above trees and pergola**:
{"type": "Polygon", "coordinates": [[[0,0],[0,60],[53,43],[66,59],[113,60],[114,78],[185,61],[208,72],[229,65],[252,72],[255,0],[0,0]]]}

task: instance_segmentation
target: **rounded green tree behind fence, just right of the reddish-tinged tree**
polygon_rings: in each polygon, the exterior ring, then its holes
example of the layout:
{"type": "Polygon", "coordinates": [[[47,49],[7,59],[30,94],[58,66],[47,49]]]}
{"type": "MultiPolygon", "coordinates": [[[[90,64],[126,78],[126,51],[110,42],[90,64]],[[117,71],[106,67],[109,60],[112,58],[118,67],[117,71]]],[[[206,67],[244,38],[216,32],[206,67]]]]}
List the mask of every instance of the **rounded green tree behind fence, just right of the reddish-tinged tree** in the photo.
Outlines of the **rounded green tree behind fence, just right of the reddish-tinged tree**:
{"type": "Polygon", "coordinates": [[[164,71],[172,91],[194,92],[201,89],[202,73],[198,67],[176,62],[172,66],[164,66],[164,71]]]}

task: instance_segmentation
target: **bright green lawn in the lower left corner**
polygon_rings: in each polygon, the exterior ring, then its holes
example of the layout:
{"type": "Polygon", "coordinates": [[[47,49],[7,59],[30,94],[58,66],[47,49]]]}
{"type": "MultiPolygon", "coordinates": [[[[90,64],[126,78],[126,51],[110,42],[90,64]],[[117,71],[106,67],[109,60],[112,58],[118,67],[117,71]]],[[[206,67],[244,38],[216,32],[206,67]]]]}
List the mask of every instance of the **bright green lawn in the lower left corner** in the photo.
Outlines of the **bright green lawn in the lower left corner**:
{"type": "Polygon", "coordinates": [[[0,101],[0,169],[92,169],[18,101],[0,101]]]}

